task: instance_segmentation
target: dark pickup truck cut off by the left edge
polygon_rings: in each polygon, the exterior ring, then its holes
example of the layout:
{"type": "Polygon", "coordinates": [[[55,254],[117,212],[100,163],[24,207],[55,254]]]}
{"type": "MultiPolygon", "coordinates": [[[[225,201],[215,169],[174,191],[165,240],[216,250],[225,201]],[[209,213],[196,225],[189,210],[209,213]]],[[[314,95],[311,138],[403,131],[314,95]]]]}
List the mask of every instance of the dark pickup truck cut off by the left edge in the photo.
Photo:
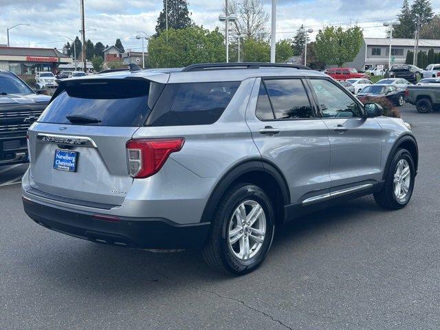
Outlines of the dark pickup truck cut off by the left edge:
{"type": "Polygon", "coordinates": [[[28,162],[26,133],[50,96],[36,94],[12,72],[0,70],[0,166],[28,162]]]}

